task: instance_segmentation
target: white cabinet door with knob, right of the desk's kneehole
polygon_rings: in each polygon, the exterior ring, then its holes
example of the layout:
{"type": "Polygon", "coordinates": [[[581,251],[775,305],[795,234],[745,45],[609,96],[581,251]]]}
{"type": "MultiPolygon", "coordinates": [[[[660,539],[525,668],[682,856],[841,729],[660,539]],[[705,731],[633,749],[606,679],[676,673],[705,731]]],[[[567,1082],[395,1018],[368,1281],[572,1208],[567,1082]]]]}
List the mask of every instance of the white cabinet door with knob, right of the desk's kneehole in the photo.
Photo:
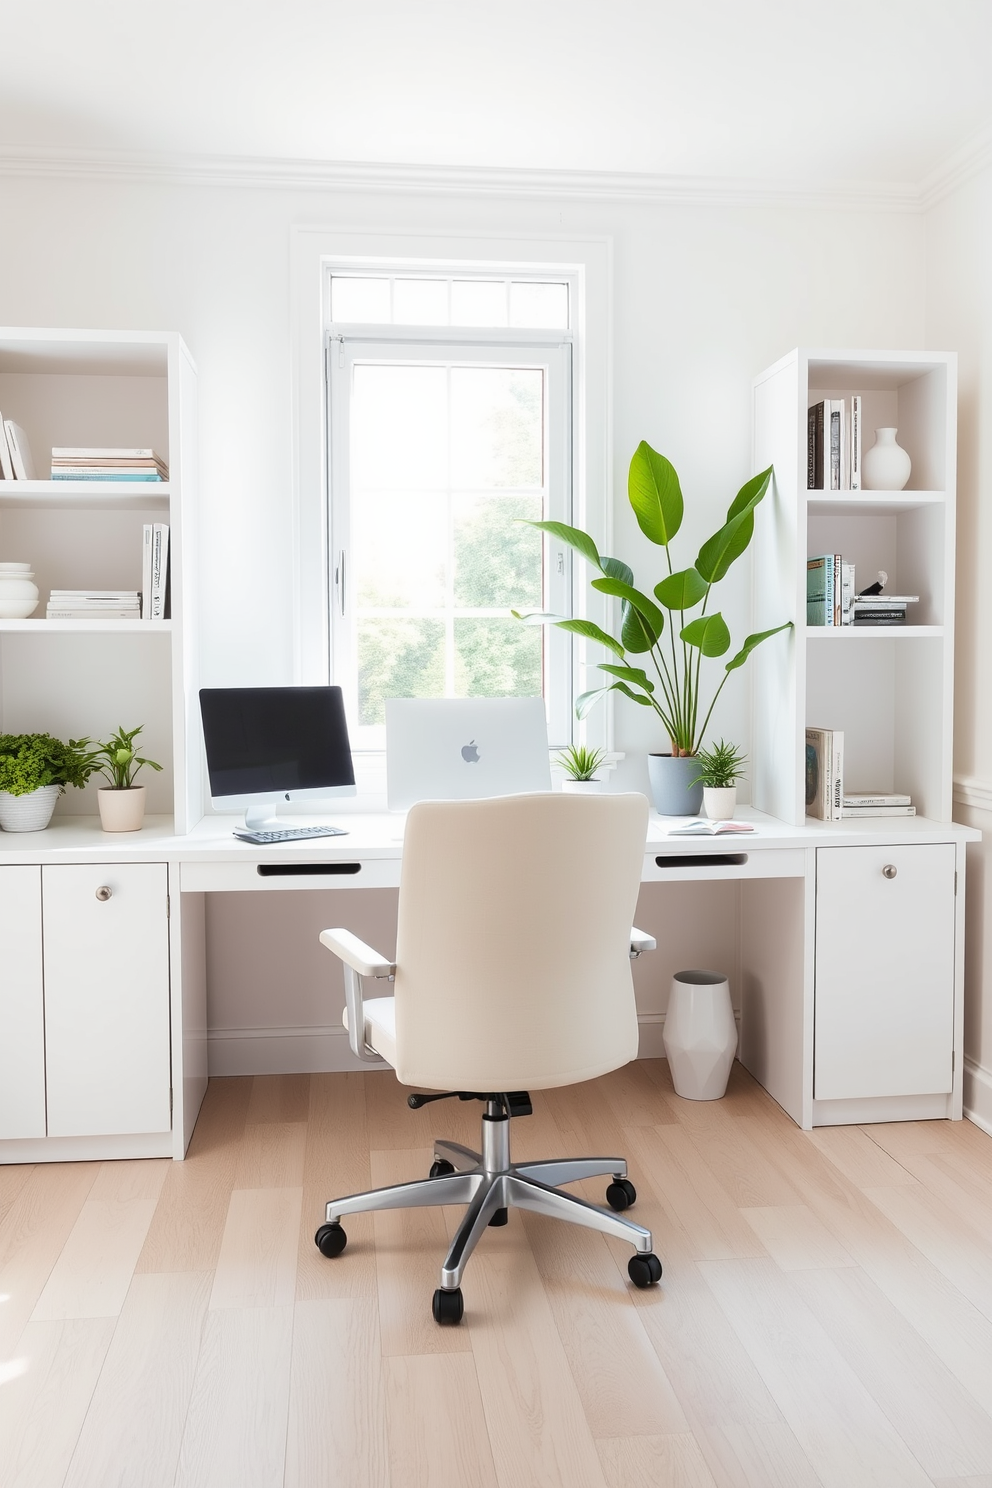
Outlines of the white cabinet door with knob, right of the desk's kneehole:
{"type": "Polygon", "coordinates": [[[950,1089],[953,876],[949,842],[818,850],[817,1100],[950,1089]]]}

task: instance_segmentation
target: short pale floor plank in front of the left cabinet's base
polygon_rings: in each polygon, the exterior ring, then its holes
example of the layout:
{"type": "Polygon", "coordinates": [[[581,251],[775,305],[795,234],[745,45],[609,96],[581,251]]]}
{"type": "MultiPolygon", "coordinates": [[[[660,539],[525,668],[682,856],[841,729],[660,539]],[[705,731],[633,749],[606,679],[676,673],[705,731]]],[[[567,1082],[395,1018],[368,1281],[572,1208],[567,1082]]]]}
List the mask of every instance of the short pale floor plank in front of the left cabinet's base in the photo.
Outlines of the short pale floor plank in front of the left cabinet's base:
{"type": "Polygon", "coordinates": [[[155,1199],[88,1198],[31,1320],[117,1317],[153,1214],[155,1199]]]}

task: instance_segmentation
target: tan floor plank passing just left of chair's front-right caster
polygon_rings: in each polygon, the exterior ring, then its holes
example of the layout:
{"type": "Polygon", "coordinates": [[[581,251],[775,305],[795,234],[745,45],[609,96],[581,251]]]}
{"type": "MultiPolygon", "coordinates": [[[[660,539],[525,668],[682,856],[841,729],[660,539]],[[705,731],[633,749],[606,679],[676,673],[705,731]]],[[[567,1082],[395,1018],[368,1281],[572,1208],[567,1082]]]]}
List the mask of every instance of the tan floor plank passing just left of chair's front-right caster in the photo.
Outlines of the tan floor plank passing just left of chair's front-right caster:
{"type": "Polygon", "coordinates": [[[686,1431],[675,1391],[650,1345],[629,1281],[592,1231],[525,1216],[531,1251],[595,1437],[686,1431]]]}

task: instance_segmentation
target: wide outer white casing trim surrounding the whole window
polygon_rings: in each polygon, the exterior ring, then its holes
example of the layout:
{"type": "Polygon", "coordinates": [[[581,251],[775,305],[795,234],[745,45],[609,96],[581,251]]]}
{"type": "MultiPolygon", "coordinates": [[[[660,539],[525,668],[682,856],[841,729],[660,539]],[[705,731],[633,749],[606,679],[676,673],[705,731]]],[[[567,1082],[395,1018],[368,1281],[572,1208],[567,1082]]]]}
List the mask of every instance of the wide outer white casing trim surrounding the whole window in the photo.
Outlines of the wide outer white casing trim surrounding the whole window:
{"type": "MultiPolygon", "coordinates": [[[[468,205],[466,210],[473,210],[468,205]]],[[[410,214],[415,208],[410,207],[410,214]]],[[[329,583],[326,332],[329,271],[402,268],[449,274],[461,268],[483,277],[546,277],[564,272],[577,286],[573,318],[573,522],[592,534],[601,552],[614,551],[611,333],[613,243],[607,237],[521,235],[495,232],[388,232],[370,228],[297,226],[292,229],[293,315],[293,554],[294,658],[293,680],[330,680],[332,606],[329,583]]],[[[390,335],[397,326],[375,327],[390,335]]],[[[445,327],[445,333],[460,327],[445,327]]],[[[476,335],[476,332],[471,332],[476,335]]],[[[521,338],[521,330],[512,332],[521,338]]],[[[558,335],[556,332],[553,335],[558,335]]],[[[571,613],[610,626],[614,601],[589,586],[582,559],[573,564],[571,613]]],[[[573,690],[601,680],[595,662],[599,646],[574,638],[573,690]]],[[[573,738],[613,748],[613,698],[593,710],[573,738]]]]}

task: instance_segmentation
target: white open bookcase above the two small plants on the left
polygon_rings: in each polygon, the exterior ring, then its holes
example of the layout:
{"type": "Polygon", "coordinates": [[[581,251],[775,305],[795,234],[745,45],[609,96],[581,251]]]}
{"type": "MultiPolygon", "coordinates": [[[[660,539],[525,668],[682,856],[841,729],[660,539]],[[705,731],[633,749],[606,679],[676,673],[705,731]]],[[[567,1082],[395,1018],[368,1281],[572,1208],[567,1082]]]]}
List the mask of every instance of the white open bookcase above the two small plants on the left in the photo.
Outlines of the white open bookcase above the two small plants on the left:
{"type": "MultiPolygon", "coordinates": [[[[27,436],[34,479],[0,481],[0,561],[30,561],[28,619],[0,619],[0,729],[107,738],[143,726],[149,814],[177,832],[202,815],[189,615],[196,372],[175,333],[0,329],[0,415],[27,436]],[[153,449],[167,481],[45,479],[54,448],[153,449]],[[171,613],[162,620],[46,619],[52,589],[141,588],[146,524],[170,527],[171,613]]],[[[54,826],[95,815],[94,780],[54,826]]]]}

